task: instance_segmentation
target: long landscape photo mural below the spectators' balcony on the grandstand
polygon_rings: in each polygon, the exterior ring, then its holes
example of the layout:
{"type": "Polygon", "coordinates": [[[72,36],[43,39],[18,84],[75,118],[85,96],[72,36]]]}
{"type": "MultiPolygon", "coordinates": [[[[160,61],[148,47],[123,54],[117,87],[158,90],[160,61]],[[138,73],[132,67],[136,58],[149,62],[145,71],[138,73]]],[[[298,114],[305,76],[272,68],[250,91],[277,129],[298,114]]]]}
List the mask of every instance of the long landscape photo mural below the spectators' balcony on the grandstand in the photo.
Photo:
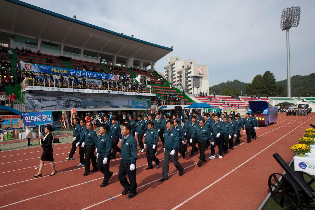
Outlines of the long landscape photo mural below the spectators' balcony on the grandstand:
{"type": "Polygon", "coordinates": [[[34,109],[106,109],[141,108],[151,106],[150,96],[134,96],[107,93],[26,92],[26,105],[34,109]]]}

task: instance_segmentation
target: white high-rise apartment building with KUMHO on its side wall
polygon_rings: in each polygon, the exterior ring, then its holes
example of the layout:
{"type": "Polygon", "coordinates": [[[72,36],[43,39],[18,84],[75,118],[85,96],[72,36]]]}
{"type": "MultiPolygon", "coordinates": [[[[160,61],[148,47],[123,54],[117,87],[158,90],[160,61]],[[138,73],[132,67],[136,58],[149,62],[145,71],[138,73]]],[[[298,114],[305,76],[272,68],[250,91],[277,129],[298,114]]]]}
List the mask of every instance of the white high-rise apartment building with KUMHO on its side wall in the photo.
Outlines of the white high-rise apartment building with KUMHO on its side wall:
{"type": "Polygon", "coordinates": [[[173,84],[185,87],[186,92],[192,93],[191,76],[202,76],[202,87],[194,88],[193,93],[199,91],[209,93],[208,66],[196,64],[194,59],[180,60],[178,56],[169,57],[169,63],[164,67],[164,76],[173,84]]]}

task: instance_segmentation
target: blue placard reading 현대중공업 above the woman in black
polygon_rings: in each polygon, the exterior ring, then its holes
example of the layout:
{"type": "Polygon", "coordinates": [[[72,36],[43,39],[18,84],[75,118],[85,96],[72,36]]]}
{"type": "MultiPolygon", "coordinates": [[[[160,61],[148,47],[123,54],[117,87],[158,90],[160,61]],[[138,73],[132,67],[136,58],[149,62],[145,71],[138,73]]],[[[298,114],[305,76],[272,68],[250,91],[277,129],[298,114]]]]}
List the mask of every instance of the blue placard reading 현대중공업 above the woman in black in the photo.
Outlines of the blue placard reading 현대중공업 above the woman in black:
{"type": "Polygon", "coordinates": [[[23,113],[24,126],[44,125],[53,123],[53,112],[27,112],[23,113]]]}

